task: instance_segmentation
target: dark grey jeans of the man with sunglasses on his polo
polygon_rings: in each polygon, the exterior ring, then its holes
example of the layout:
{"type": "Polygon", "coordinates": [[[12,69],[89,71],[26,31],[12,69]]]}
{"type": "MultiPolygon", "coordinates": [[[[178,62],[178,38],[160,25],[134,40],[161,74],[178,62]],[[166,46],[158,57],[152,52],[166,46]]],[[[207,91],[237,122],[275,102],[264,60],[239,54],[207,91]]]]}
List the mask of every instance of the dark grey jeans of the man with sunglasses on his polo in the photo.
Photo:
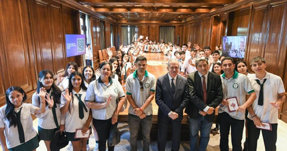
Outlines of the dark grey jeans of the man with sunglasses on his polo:
{"type": "Polygon", "coordinates": [[[130,143],[131,151],[137,151],[137,135],[140,129],[140,124],[143,133],[143,151],[150,150],[150,130],[153,125],[153,115],[148,115],[146,118],[140,119],[136,115],[128,114],[128,125],[130,127],[130,143]]]}

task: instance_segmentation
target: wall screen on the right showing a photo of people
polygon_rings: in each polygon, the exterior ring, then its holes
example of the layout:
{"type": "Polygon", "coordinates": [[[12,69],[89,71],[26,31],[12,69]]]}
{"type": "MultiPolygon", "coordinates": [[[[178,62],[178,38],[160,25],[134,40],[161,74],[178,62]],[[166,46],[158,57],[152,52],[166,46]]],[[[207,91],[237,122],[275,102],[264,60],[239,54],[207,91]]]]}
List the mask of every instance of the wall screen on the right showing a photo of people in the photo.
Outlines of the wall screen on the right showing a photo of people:
{"type": "Polygon", "coordinates": [[[247,36],[222,36],[222,56],[244,58],[247,36]]]}

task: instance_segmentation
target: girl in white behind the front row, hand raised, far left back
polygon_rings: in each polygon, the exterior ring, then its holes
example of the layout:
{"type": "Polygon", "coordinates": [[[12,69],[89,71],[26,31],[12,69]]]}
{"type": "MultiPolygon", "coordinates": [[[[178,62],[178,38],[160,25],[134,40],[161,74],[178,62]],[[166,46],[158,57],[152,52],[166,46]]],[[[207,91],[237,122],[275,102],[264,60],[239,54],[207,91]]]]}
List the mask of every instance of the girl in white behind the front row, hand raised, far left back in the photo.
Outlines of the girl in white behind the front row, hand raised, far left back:
{"type": "Polygon", "coordinates": [[[78,71],[78,65],[76,62],[69,62],[66,66],[65,74],[61,73],[57,76],[57,85],[62,87],[63,90],[69,87],[69,76],[72,72],[78,71]]]}

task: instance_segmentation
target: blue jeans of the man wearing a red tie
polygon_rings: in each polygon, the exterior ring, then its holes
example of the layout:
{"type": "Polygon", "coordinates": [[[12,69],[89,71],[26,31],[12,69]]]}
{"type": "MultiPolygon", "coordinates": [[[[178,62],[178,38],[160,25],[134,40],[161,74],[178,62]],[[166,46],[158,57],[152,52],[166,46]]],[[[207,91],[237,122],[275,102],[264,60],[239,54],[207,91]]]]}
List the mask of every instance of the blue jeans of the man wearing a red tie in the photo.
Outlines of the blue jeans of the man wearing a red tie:
{"type": "Polygon", "coordinates": [[[200,115],[196,119],[189,117],[188,123],[190,151],[205,151],[209,142],[209,134],[212,122],[208,122],[205,119],[205,116],[200,115]],[[198,131],[200,131],[199,149],[197,146],[198,131]]]}

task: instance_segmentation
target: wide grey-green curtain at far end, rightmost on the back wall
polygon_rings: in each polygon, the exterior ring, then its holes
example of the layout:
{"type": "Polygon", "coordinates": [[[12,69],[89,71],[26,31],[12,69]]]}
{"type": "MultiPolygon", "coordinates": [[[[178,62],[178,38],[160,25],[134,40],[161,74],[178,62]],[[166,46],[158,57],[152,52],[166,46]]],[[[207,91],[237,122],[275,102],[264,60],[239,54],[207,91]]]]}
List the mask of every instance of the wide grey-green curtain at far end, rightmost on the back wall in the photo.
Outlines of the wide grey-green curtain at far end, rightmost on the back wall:
{"type": "Polygon", "coordinates": [[[165,43],[174,43],[174,26],[160,26],[160,39],[163,39],[165,43]]]}

